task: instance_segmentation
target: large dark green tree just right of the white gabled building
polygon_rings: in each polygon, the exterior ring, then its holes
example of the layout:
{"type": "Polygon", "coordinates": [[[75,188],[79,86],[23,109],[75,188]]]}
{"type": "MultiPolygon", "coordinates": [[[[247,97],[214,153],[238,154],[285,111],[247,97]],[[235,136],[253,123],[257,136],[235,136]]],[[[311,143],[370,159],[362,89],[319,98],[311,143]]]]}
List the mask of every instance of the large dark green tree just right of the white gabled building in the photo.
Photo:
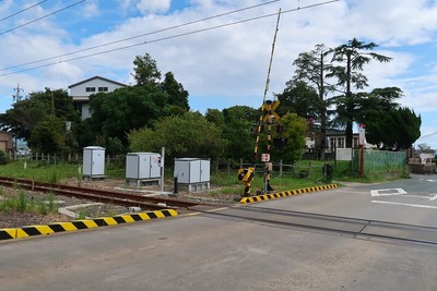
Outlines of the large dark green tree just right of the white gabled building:
{"type": "Polygon", "coordinates": [[[137,56],[133,63],[135,86],[90,96],[92,117],[84,122],[82,143],[96,143],[98,134],[101,146],[117,151],[128,147],[128,132],[152,129],[156,120],[182,116],[189,110],[188,92],[172,72],[161,82],[156,61],[149,53],[137,56]]]}

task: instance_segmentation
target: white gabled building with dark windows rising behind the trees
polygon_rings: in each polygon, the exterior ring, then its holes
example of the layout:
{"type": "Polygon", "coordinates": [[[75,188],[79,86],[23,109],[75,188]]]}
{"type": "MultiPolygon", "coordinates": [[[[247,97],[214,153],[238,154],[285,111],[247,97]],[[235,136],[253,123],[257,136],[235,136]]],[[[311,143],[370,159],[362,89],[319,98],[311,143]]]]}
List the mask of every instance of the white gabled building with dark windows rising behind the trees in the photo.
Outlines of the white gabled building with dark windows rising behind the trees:
{"type": "Polygon", "coordinates": [[[90,96],[96,93],[108,93],[128,85],[105,78],[93,76],[69,86],[70,96],[73,98],[75,108],[81,112],[82,120],[91,117],[90,96]]]}

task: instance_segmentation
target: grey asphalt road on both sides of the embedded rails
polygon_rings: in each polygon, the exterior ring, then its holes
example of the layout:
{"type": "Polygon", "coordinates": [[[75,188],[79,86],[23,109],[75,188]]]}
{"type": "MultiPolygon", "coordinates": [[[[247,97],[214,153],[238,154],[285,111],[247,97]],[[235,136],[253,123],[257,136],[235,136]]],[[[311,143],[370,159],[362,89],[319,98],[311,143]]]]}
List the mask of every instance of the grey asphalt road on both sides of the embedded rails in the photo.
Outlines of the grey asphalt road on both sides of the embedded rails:
{"type": "MultiPolygon", "coordinates": [[[[249,207],[437,227],[436,182],[351,184],[249,207]]],[[[437,246],[227,211],[2,242],[0,290],[437,290],[437,246]]]]}

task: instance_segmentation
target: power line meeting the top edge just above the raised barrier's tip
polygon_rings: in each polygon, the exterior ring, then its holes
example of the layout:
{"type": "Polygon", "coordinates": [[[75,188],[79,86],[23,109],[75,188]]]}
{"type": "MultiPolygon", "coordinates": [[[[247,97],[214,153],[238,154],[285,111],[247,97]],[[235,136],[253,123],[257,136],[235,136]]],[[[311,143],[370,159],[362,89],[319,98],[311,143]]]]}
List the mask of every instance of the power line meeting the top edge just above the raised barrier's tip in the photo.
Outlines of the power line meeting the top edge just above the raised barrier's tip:
{"type": "Polygon", "coordinates": [[[216,15],[213,15],[213,16],[208,16],[208,17],[200,19],[200,20],[197,20],[197,21],[191,21],[191,22],[187,22],[187,23],[169,26],[169,27],[166,27],[166,28],[157,29],[157,31],[154,31],[154,32],[151,32],[151,33],[145,33],[145,34],[141,34],[141,35],[132,36],[132,37],[127,37],[127,38],[122,38],[122,39],[119,39],[119,40],[105,43],[105,44],[102,44],[102,45],[98,45],[98,46],[88,47],[88,48],[84,48],[84,49],[81,49],[81,50],[75,50],[75,51],[67,52],[67,53],[63,53],[63,54],[58,54],[58,56],[55,56],[55,57],[49,57],[49,58],[37,60],[37,61],[32,61],[32,62],[26,62],[26,63],[22,63],[22,64],[16,64],[16,65],[3,68],[0,71],[11,70],[11,69],[20,68],[20,66],[25,66],[25,65],[29,65],[29,64],[44,62],[44,61],[59,59],[59,58],[71,56],[71,54],[75,54],[75,53],[79,53],[79,52],[84,52],[84,51],[88,51],[88,50],[93,50],[93,49],[97,49],[97,48],[102,48],[102,47],[106,47],[106,46],[110,46],[110,45],[115,45],[115,44],[132,40],[132,39],[140,38],[140,37],[145,37],[145,36],[154,35],[154,34],[158,34],[158,33],[163,33],[163,32],[180,28],[180,27],[188,26],[188,25],[191,25],[191,24],[196,24],[196,23],[200,23],[200,22],[204,22],[204,21],[209,21],[209,20],[213,20],[213,19],[231,15],[231,14],[234,14],[234,13],[238,13],[238,12],[250,10],[250,9],[255,9],[255,8],[259,8],[259,7],[262,7],[262,5],[268,5],[268,4],[271,4],[271,3],[274,3],[274,2],[279,2],[279,1],[280,0],[273,0],[273,1],[261,3],[261,4],[251,5],[251,7],[247,7],[247,8],[243,8],[243,9],[238,9],[238,10],[234,10],[234,11],[231,11],[231,12],[225,12],[225,13],[216,14],[216,15]]]}

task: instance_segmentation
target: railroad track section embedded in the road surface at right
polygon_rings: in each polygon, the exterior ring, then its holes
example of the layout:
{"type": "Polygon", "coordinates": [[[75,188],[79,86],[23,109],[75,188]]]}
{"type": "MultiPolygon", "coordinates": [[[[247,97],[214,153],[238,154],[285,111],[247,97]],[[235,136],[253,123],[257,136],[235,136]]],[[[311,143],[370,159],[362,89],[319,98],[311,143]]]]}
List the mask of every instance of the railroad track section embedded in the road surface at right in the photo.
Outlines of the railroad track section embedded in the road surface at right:
{"type": "Polygon", "coordinates": [[[437,228],[429,226],[250,206],[229,207],[206,215],[244,219],[279,228],[332,233],[356,240],[437,246],[437,228]]]}

